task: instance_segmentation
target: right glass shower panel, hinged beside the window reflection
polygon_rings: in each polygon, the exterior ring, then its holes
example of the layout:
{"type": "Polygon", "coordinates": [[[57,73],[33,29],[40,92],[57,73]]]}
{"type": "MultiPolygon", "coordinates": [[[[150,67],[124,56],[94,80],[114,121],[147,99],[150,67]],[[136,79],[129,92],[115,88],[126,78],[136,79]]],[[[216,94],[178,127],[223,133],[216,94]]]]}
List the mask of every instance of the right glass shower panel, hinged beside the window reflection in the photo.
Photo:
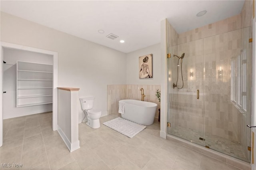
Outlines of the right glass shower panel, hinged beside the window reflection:
{"type": "Polygon", "coordinates": [[[250,162],[250,27],[205,38],[205,144],[250,162]]]}

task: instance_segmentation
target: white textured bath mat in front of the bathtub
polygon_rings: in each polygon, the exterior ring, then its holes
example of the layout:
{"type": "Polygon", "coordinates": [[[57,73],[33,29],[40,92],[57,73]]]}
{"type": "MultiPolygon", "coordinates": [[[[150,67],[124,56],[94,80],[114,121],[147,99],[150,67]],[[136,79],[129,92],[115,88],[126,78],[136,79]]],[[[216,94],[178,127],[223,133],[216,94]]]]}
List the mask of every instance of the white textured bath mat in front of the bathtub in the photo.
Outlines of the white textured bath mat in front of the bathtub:
{"type": "Polygon", "coordinates": [[[129,138],[132,138],[146,128],[144,125],[122,119],[121,117],[104,122],[103,125],[106,125],[107,127],[110,127],[129,138]]]}

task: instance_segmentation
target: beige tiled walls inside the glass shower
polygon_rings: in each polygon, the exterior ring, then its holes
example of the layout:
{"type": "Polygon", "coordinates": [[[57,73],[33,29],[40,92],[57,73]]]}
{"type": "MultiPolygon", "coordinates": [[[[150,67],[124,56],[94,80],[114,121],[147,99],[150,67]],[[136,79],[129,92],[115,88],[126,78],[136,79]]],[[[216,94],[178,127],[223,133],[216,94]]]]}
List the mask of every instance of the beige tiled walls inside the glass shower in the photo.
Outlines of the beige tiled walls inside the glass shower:
{"type": "MultiPolygon", "coordinates": [[[[185,53],[182,70],[184,87],[172,89],[172,83],[182,86],[181,71],[177,74],[178,59],[168,59],[169,70],[169,111],[168,121],[174,127],[192,128],[207,135],[241,143],[246,157],[250,158],[247,146],[250,146],[251,115],[251,47],[248,39],[252,37],[252,1],[245,1],[241,14],[216,23],[176,34],[172,26],[167,25],[168,53],[185,53]],[[230,61],[247,51],[247,112],[241,113],[230,101],[230,61]],[[223,69],[223,77],[218,77],[218,69],[223,69]],[[190,76],[190,72],[193,76],[190,76]],[[196,99],[199,89],[200,99],[196,99]]],[[[250,160],[250,159],[249,159],[250,160]]]]}

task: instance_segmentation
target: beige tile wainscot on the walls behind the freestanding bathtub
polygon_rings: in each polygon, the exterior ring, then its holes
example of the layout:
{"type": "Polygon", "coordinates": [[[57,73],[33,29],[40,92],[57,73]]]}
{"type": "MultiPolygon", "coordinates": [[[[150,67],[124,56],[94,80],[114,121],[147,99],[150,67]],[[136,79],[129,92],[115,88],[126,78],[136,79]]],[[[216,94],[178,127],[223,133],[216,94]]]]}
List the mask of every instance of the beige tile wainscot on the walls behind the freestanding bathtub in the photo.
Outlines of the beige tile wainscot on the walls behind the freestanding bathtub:
{"type": "Polygon", "coordinates": [[[156,115],[158,118],[160,102],[156,99],[156,89],[160,90],[160,85],[108,85],[108,115],[118,113],[118,101],[122,99],[141,100],[140,88],[144,89],[146,97],[144,101],[157,104],[156,115]]]}

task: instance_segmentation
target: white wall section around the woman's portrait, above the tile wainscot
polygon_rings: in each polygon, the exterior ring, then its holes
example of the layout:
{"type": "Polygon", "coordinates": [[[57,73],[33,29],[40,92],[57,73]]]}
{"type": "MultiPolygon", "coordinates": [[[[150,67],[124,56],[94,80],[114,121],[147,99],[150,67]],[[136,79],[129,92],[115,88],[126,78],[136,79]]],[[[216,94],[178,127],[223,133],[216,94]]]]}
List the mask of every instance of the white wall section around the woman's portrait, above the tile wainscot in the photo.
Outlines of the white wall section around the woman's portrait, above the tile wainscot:
{"type": "Polygon", "coordinates": [[[161,48],[160,43],[138,49],[126,54],[126,84],[160,85],[161,84],[161,48]],[[139,57],[153,54],[153,78],[139,79],[139,57]]]}

